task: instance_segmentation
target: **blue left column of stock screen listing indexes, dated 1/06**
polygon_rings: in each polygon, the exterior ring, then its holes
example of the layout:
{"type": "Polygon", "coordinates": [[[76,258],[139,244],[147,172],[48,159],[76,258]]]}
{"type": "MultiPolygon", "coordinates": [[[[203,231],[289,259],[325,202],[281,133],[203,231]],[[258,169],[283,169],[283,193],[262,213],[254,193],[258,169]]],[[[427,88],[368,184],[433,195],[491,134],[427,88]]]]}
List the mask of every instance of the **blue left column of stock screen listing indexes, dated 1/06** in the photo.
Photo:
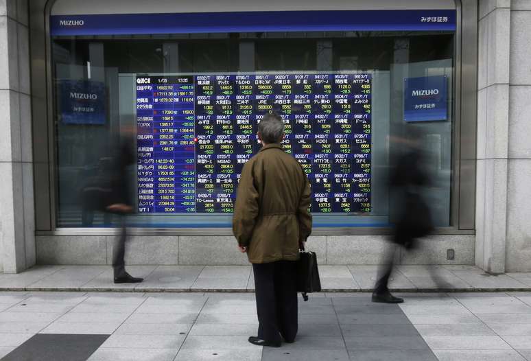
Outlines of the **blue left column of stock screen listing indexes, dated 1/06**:
{"type": "Polygon", "coordinates": [[[137,78],[139,213],[196,211],[192,76],[137,78]]]}

